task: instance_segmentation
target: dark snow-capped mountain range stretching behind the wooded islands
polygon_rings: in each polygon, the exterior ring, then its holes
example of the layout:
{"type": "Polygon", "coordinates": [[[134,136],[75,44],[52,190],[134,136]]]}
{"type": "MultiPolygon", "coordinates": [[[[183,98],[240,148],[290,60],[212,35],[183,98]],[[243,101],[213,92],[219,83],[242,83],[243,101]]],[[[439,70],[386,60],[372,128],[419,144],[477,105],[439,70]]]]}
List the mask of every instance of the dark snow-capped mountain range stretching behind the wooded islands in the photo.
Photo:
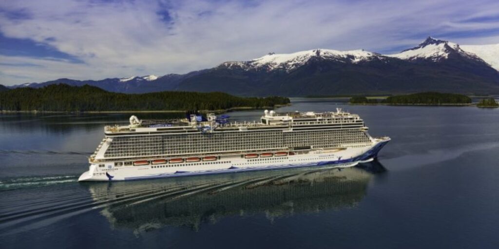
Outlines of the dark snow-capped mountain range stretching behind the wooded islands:
{"type": "Polygon", "coordinates": [[[88,84],[122,93],[220,91],[235,95],[307,96],[438,91],[497,94],[498,70],[499,44],[460,46],[428,37],[414,48],[390,55],[364,50],[314,49],[291,54],[269,53],[250,61],[228,61],[187,74],[99,81],[58,79],[13,88],[66,83],[88,84]]]}

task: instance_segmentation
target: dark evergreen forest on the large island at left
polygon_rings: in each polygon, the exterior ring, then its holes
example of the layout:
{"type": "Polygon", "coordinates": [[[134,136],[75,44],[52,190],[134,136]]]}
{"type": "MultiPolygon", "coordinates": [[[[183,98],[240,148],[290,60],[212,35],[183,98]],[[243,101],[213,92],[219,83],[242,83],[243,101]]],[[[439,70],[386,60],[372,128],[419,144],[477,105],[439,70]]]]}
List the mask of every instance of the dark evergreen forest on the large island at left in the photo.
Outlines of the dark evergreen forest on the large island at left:
{"type": "Polygon", "coordinates": [[[43,88],[16,88],[0,92],[4,111],[185,111],[226,110],[237,107],[262,108],[288,104],[284,97],[244,98],[225,93],[157,92],[111,93],[84,85],[54,84],[43,88]]]}

